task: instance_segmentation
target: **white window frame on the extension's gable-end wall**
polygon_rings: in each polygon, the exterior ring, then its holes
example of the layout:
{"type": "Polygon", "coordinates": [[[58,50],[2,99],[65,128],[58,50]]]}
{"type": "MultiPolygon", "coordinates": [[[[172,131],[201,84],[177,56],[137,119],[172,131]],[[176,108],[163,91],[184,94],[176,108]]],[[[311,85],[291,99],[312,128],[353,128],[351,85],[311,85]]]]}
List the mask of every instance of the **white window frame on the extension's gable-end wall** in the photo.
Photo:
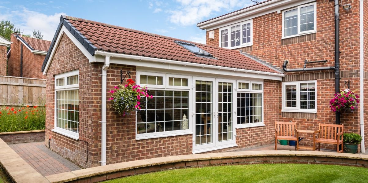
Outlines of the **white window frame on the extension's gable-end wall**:
{"type": "MultiPolygon", "coordinates": [[[[79,133],[76,132],[72,132],[70,130],[66,130],[60,127],[57,127],[57,119],[56,119],[56,110],[57,110],[57,92],[58,91],[66,91],[66,90],[79,90],[79,70],[74,70],[74,71],[70,71],[70,72],[65,72],[65,73],[61,73],[58,75],[55,75],[54,77],[54,129],[52,129],[53,132],[56,133],[60,133],[62,135],[65,135],[67,137],[70,137],[72,139],[78,140],[79,139],[79,133]],[[66,85],[67,84],[67,78],[69,76],[75,76],[78,75],[78,84],[74,84],[74,85],[66,85]],[[63,86],[56,86],[56,80],[60,79],[60,78],[64,78],[64,85],[63,86]]],[[[78,103],[79,103],[79,92],[78,92],[78,103]]],[[[79,105],[79,104],[78,104],[79,105]]],[[[78,108],[78,115],[79,115],[79,108],[78,108]]],[[[79,118],[78,118],[79,119],[79,118]]],[[[79,120],[78,120],[78,124],[79,124],[79,120]]],[[[78,125],[79,128],[79,125],[78,125]]]]}

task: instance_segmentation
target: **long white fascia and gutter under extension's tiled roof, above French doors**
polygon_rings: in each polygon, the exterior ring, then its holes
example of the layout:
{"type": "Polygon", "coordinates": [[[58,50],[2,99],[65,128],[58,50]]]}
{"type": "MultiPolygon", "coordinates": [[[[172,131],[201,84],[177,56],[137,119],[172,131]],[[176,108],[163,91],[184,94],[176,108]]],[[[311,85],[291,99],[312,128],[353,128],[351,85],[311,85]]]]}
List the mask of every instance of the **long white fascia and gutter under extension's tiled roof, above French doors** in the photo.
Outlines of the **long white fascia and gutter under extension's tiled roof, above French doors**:
{"type": "Polygon", "coordinates": [[[134,65],[139,67],[151,67],[160,69],[169,69],[176,71],[191,71],[200,73],[209,73],[226,76],[237,76],[237,77],[248,77],[248,78],[259,78],[259,79],[271,79],[271,80],[282,80],[285,76],[282,73],[271,73],[262,71],[252,71],[247,69],[237,69],[229,67],[220,67],[215,65],[205,65],[190,62],[181,62],[173,60],[164,60],[160,58],[142,57],[136,55],[126,55],[118,53],[109,53],[105,51],[95,51],[95,57],[97,62],[104,62],[104,57],[98,57],[97,55],[110,57],[110,64],[124,64],[134,65]]]}

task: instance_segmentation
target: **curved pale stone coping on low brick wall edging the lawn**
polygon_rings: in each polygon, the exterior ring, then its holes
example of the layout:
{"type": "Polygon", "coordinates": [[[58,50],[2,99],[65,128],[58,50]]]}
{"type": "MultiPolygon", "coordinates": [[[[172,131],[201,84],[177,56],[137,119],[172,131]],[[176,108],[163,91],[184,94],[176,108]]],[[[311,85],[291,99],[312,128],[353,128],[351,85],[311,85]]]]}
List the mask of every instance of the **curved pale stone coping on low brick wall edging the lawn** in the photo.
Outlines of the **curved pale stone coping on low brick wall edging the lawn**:
{"type": "MultiPolygon", "coordinates": [[[[348,153],[333,153],[324,151],[238,151],[238,152],[224,152],[224,153],[209,153],[209,154],[190,154],[190,155],[174,155],[169,157],[159,157],[152,159],[142,159],[136,161],[121,162],[117,164],[110,164],[105,166],[96,166],[93,168],[86,168],[72,172],[59,173],[56,175],[46,176],[46,179],[51,183],[69,182],[72,180],[79,180],[86,177],[94,177],[107,175],[109,173],[116,173],[120,171],[134,170],[137,168],[145,168],[150,166],[174,164],[178,162],[191,161],[208,161],[216,159],[229,158],[247,158],[247,157],[326,157],[326,158],[342,158],[342,159],[366,159],[368,155],[364,154],[348,154],[348,153]]],[[[210,163],[208,163],[209,165],[210,163]]],[[[226,163],[223,163],[226,164],[226,163]]],[[[169,167],[169,166],[167,166],[169,167]]],[[[175,166],[172,166],[175,168],[175,166]]],[[[148,169],[147,169],[148,170],[148,169]]],[[[146,171],[148,172],[148,171],[146,171]]],[[[134,173],[133,173],[134,174],[134,173]]]]}

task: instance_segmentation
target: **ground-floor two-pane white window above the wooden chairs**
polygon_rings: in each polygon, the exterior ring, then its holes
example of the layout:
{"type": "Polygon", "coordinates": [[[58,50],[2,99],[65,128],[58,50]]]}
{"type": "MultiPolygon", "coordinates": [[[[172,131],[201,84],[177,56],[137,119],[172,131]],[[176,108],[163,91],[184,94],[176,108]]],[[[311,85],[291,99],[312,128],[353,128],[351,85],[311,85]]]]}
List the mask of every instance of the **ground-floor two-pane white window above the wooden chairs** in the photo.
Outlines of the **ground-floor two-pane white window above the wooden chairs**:
{"type": "Polygon", "coordinates": [[[282,83],[283,112],[317,112],[317,82],[298,81],[282,83]]]}

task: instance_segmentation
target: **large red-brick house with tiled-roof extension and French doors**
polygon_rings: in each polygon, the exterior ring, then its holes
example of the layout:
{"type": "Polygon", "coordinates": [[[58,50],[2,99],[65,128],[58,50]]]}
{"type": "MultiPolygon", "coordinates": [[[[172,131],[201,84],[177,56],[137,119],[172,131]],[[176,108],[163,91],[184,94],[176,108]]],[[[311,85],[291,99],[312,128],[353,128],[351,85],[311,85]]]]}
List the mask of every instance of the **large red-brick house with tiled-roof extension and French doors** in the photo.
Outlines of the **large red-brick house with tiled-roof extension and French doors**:
{"type": "MultiPolygon", "coordinates": [[[[93,167],[273,144],[275,121],[296,121],[305,130],[339,122],[364,136],[368,38],[360,22],[368,6],[344,0],[351,9],[335,11],[335,3],[257,3],[197,24],[207,45],[62,16],[42,66],[45,143],[93,167]],[[128,71],[154,97],[123,117],[107,91],[128,71]],[[335,114],[329,100],[345,81],[360,89],[361,105],[335,114]]],[[[311,136],[302,135],[301,143],[311,146],[311,136]]]]}

